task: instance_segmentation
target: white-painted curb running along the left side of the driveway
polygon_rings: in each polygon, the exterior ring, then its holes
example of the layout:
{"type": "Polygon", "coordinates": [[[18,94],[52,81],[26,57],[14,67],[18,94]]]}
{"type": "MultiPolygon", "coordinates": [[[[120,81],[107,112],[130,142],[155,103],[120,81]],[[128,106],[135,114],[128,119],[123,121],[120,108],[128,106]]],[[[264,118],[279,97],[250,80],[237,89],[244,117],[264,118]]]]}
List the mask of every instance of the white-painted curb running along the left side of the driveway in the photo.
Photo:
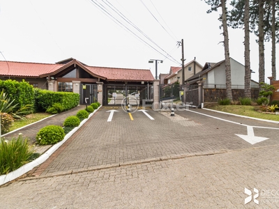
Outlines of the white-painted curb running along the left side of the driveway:
{"type": "MultiPolygon", "coordinates": [[[[100,107],[102,107],[102,105],[100,105],[100,107]]],[[[100,107],[98,107],[98,109],[100,109],[100,107]]],[[[89,120],[89,118],[91,118],[91,116],[93,116],[93,114],[96,113],[96,111],[98,111],[98,109],[95,109],[93,111],[93,113],[89,114],[88,118],[85,118],[82,122],[80,122],[80,125],[73,128],[73,130],[71,130],[70,132],[68,132],[68,134],[66,134],[66,136],[64,137],[64,139],[62,141],[59,141],[58,143],[54,144],[51,148],[49,148],[45,153],[43,153],[42,155],[40,155],[40,157],[38,157],[36,160],[33,160],[32,162],[29,162],[27,164],[24,164],[24,166],[20,167],[19,169],[12,171],[6,175],[1,175],[0,176],[0,185],[4,185],[8,182],[10,182],[11,180],[15,180],[16,178],[19,178],[20,176],[22,176],[24,173],[27,173],[28,171],[31,171],[33,168],[37,167],[38,165],[42,164],[43,162],[45,162],[45,160],[47,160],[48,157],[50,157],[50,155],[52,155],[52,153],[54,153],[62,144],[64,144],[80,127],[82,127],[82,125],[84,125],[84,123],[86,123],[86,121],[89,120]]]]}

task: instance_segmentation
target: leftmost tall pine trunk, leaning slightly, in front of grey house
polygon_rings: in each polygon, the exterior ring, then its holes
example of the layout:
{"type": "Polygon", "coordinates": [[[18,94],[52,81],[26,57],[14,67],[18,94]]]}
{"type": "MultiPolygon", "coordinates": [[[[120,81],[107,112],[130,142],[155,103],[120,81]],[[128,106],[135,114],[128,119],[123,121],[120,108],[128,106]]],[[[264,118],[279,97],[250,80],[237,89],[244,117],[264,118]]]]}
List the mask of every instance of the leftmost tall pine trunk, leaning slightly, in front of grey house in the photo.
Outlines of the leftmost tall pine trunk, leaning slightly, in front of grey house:
{"type": "Polygon", "coordinates": [[[223,23],[224,46],[225,46],[225,72],[226,72],[227,98],[232,100],[232,76],[231,76],[231,63],[229,58],[229,33],[227,31],[227,8],[226,8],[225,0],[221,0],[221,6],[222,6],[222,23],[223,23]]]}

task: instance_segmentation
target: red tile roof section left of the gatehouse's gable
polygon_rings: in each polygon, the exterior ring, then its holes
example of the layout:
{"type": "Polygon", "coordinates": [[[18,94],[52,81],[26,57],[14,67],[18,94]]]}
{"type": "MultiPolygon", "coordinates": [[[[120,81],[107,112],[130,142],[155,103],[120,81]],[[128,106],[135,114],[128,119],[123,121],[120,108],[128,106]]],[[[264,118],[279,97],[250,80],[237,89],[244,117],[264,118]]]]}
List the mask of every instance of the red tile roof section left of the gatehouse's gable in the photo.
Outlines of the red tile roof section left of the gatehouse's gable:
{"type": "Polygon", "coordinates": [[[60,64],[22,63],[15,61],[0,61],[0,76],[39,77],[61,68],[60,64]]]}

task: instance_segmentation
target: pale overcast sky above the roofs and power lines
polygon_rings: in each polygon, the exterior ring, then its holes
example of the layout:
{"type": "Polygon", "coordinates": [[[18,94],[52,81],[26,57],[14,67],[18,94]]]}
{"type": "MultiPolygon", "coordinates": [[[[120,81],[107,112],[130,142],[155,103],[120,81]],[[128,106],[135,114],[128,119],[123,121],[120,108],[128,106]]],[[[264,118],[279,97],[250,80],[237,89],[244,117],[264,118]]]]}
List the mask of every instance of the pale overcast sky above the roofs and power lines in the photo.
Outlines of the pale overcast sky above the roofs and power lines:
{"type": "MultiPolygon", "coordinates": [[[[225,59],[220,10],[207,14],[209,6],[200,0],[0,0],[0,9],[0,52],[7,61],[73,57],[92,66],[150,69],[155,77],[149,59],[163,60],[158,75],[168,73],[181,64],[181,39],[186,63],[194,57],[201,65],[225,59]]],[[[243,38],[242,29],[229,30],[230,56],[242,64],[243,38]]],[[[251,34],[252,79],[258,81],[256,39],[251,34]]],[[[269,77],[271,43],[265,49],[269,77]]]]}

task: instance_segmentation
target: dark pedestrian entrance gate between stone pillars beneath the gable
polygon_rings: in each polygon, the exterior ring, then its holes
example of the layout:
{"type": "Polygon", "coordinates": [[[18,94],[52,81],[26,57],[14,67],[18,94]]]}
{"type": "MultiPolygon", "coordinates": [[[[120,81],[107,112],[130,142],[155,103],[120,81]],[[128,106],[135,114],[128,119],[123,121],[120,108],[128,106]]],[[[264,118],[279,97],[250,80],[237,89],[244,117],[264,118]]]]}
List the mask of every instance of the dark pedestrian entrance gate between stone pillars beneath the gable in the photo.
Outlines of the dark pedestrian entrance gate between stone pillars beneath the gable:
{"type": "Polygon", "coordinates": [[[87,104],[97,102],[97,85],[96,84],[81,84],[80,85],[80,104],[86,104],[85,98],[88,98],[87,104]]]}

